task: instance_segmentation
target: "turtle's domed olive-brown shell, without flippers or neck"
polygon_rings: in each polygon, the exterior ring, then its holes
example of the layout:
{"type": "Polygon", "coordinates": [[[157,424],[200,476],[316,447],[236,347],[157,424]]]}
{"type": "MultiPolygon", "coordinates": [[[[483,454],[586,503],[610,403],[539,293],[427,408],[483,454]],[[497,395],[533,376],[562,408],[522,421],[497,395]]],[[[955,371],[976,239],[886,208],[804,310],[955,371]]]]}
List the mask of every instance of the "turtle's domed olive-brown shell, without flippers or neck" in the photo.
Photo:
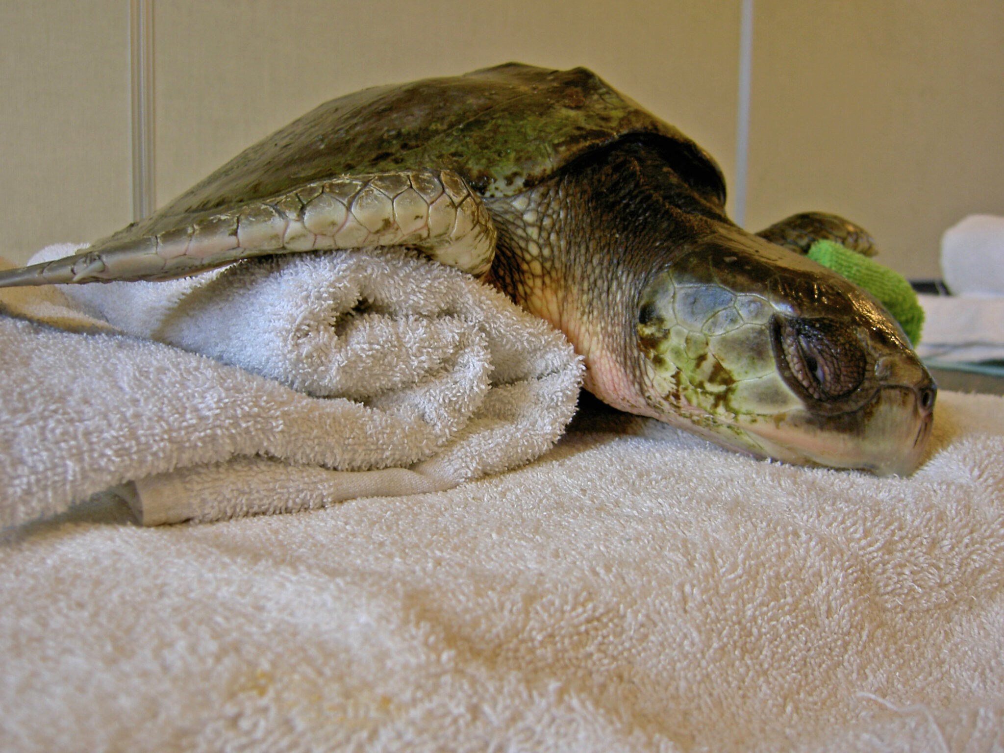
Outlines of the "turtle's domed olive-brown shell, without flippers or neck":
{"type": "MultiPolygon", "coordinates": [[[[724,181],[714,160],[591,71],[507,63],[325,102],[108,240],[157,235],[337,176],[453,171],[484,196],[513,196],[632,135],[657,139],[667,154],[679,153],[683,162],[697,165],[691,178],[701,184],[699,190],[724,203],[724,181]]],[[[437,200],[441,189],[433,181],[416,183],[412,187],[430,204],[437,200]]],[[[378,185],[391,199],[408,188],[393,179],[387,190],[378,185]]],[[[343,182],[331,190],[346,204],[355,191],[343,182]]]]}

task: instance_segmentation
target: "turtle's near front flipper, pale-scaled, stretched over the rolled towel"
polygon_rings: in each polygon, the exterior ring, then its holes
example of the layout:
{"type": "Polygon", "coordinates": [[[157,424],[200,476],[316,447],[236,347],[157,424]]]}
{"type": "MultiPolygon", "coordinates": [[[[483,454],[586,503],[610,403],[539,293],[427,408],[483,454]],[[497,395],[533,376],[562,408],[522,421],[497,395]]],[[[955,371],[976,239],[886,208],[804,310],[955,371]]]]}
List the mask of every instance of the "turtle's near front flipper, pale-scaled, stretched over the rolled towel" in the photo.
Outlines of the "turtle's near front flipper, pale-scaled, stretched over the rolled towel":
{"type": "Polygon", "coordinates": [[[451,171],[337,177],[179,220],[156,235],[127,231],[74,256],[0,272],[0,287],[166,280],[253,256],[374,246],[412,246],[481,275],[495,254],[488,210],[451,171]]]}

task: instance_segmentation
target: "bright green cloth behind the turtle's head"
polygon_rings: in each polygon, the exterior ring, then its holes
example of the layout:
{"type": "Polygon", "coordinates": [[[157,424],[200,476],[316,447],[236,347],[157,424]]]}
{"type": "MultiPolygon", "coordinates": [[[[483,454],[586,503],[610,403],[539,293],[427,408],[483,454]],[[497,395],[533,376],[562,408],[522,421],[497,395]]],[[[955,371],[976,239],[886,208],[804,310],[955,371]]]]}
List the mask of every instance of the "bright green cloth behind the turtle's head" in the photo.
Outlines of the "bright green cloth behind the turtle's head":
{"type": "Polygon", "coordinates": [[[906,277],[833,241],[816,241],[808,257],[867,290],[900,322],[915,347],[921,341],[924,309],[906,277]]]}

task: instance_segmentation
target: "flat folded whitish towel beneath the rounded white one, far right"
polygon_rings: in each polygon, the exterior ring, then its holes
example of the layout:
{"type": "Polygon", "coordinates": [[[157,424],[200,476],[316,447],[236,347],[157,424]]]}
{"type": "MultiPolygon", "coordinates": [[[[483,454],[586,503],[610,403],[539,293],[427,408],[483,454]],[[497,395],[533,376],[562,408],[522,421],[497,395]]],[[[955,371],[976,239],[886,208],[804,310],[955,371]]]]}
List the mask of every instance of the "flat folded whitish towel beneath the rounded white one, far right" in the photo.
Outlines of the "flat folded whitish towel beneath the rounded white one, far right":
{"type": "Polygon", "coordinates": [[[920,295],[925,359],[974,362],[1004,359],[1004,297],[920,295]]]}

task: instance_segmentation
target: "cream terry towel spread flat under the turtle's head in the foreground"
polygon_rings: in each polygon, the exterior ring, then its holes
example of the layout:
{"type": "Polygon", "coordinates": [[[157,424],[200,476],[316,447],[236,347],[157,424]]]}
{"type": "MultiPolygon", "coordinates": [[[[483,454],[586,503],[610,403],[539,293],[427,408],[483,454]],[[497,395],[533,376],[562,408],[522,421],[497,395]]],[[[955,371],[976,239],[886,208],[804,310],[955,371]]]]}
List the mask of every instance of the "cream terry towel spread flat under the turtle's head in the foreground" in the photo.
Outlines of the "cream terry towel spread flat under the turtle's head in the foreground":
{"type": "Polygon", "coordinates": [[[1004,399],[909,479],[585,406],[454,489],[0,539],[0,749],[1004,748],[1004,399]]]}

